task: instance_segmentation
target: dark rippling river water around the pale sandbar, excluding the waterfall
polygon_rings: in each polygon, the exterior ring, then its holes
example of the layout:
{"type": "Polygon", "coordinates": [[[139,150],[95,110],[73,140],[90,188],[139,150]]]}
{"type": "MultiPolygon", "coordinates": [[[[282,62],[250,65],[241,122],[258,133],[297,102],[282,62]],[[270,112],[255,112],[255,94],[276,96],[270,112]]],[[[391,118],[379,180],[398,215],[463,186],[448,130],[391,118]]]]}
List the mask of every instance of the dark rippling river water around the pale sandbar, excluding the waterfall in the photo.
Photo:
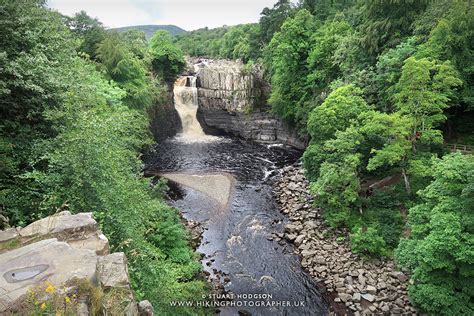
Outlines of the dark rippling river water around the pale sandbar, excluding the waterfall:
{"type": "Polygon", "coordinates": [[[234,293],[234,301],[241,305],[220,308],[221,315],[237,315],[238,311],[252,315],[327,314],[321,294],[302,271],[293,246],[269,238],[282,233],[285,224],[272,197],[274,175],[299,155],[281,146],[226,139],[192,144],[167,141],[146,158],[149,173],[227,172],[236,179],[225,209],[184,186],[179,186],[179,194],[171,201],[186,218],[202,224],[205,231],[198,251],[205,254],[203,266],[221,281],[225,279],[225,290],[234,293]],[[245,294],[268,295],[271,299],[263,301],[274,306],[249,306],[262,299],[244,299],[245,294]]]}

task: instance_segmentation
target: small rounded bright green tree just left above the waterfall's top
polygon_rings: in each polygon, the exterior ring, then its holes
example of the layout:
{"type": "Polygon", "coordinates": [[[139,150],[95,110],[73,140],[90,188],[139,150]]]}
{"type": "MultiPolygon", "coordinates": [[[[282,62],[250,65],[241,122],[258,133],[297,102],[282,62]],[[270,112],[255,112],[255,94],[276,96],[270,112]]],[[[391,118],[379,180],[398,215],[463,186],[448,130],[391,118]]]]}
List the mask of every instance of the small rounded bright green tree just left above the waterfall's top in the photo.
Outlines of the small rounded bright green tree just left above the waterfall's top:
{"type": "Polygon", "coordinates": [[[173,44],[171,35],[166,31],[155,32],[150,40],[149,52],[155,73],[167,83],[174,82],[185,61],[183,52],[173,44]]]}

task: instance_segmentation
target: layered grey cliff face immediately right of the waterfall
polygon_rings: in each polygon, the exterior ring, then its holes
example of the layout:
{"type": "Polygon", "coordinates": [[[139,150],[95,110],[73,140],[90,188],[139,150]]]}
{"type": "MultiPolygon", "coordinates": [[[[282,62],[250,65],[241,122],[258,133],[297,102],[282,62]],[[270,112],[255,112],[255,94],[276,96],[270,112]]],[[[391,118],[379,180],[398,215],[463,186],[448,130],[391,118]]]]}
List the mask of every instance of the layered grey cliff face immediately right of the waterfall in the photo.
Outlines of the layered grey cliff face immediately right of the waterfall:
{"type": "Polygon", "coordinates": [[[191,60],[197,77],[198,120],[206,133],[227,134],[263,143],[284,143],[303,149],[298,138],[281,119],[269,113],[270,87],[258,67],[241,62],[191,60]]]}

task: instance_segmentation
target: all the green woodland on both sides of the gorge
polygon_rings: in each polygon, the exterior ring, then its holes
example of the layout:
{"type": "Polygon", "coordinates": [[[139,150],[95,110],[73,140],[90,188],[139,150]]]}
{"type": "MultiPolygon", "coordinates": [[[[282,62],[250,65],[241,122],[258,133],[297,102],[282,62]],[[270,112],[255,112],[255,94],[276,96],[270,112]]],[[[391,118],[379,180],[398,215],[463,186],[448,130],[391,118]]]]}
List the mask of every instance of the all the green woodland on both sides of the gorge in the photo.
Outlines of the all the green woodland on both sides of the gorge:
{"type": "Polygon", "coordinates": [[[179,213],[163,183],[141,176],[147,109],[164,102],[184,54],[241,59],[263,65],[271,110],[309,139],[303,163],[328,225],[410,272],[421,311],[474,313],[474,158],[445,146],[474,145],[471,1],[280,0],[257,24],[148,42],[85,12],[0,0],[0,30],[0,211],[11,225],[92,211],[127,254],[139,299],[163,314],[170,300],[199,299],[206,284],[179,213]]]}

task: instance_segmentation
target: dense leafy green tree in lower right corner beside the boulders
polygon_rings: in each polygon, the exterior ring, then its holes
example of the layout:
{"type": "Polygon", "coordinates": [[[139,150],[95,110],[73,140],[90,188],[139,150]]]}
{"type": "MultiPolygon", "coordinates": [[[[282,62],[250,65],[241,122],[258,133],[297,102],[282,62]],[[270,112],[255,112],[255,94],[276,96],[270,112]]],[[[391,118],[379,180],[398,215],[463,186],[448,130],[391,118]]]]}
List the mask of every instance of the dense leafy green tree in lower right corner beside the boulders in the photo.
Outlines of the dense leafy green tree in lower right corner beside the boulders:
{"type": "Polygon", "coordinates": [[[474,159],[451,154],[433,160],[433,181],[409,210],[411,235],[397,249],[398,263],[412,273],[410,297],[440,315],[474,312],[474,159]]]}

